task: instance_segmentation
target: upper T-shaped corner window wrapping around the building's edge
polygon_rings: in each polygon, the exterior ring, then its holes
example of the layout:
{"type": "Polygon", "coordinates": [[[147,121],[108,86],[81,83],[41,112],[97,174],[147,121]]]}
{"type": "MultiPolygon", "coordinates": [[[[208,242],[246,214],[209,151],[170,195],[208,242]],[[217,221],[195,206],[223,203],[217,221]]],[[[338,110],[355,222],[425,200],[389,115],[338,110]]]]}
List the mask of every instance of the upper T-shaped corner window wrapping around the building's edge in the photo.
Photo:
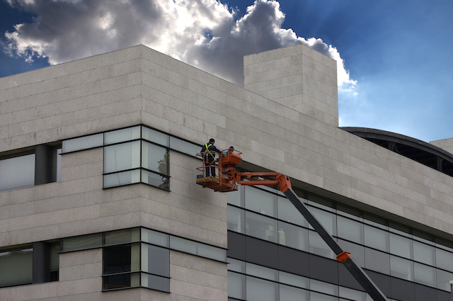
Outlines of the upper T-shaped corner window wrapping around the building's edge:
{"type": "Polygon", "coordinates": [[[104,147],[103,188],[146,183],[168,190],[170,149],[195,157],[200,146],[144,125],[64,140],[62,153],[104,147]]]}

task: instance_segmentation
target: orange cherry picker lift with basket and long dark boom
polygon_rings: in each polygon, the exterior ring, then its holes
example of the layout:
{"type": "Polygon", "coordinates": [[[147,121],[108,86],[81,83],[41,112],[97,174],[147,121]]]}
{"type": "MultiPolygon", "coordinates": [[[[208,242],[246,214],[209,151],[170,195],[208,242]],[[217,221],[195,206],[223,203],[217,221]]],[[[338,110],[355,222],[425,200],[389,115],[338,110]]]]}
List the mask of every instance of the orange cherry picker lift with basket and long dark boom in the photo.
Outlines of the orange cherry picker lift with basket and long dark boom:
{"type": "Polygon", "coordinates": [[[239,172],[236,171],[236,166],[241,164],[241,152],[237,150],[226,149],[219,155],[219,164],[216,166],[218,170],[218,177],[216,176],[205,176],[205,170],[208,167],[205,162],[205,153],[197,154],[197,156],[203,158],[203,166],[198,167],[197,170],[201,171],[202,174],[197,176],[197,184],[205,188],[211,188],[218,192],[229,192],[237,191],[238,184],[244,186],[278,186],[280,191],[285,194],[288,200],[291,201],[292,205],[299,210],[299,212],[309,222],[311,227],[319,233],[321,238],[336,254],[337,261],[343,263],[343,265],[350,271],[352,276],[357,280],[362,288],[369,294],[374,301],[388,301],[386,296],[381,290],[374,284],[374,282],[367,276],[367,273],[357,266],[352,260],[352,256],[347,251],[344,251],[340,245],[333,239],[326,228],[321,225],[321,222],[316,219],[314,215],[309,212],[304,203],[299,200],[299,197],[292,190],[291,182],[289,178],[283,174],[276,172],[239,172]]]}

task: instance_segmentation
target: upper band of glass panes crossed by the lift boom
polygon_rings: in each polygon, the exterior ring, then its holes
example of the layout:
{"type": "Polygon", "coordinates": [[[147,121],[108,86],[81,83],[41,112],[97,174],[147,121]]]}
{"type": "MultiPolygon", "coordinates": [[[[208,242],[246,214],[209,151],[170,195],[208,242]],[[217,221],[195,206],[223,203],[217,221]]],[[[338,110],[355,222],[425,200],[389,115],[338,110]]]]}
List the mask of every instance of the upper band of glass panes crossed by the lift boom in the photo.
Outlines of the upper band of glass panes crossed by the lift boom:
{"type": "MultiPolygon", "coordinates": [[[[228,196],[228,229],[328,259],[335,254],[280,193],[240,186],[228,196]]],[[[302,199],[355,261],[377,271],[432,288],[450,290],[451,242],[379,220],[316,196],[302,199]]]]}

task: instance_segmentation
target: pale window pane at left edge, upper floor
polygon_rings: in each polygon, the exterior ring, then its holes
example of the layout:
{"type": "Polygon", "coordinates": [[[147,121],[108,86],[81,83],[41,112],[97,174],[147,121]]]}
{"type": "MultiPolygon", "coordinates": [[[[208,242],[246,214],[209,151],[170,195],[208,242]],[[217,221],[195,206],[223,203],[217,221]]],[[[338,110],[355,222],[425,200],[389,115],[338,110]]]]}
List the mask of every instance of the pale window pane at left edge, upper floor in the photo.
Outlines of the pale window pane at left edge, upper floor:
{"type": "Polygon", "coordinates": [[[35,154],[0,160],[0,191],[35,185],[35,154]]]}

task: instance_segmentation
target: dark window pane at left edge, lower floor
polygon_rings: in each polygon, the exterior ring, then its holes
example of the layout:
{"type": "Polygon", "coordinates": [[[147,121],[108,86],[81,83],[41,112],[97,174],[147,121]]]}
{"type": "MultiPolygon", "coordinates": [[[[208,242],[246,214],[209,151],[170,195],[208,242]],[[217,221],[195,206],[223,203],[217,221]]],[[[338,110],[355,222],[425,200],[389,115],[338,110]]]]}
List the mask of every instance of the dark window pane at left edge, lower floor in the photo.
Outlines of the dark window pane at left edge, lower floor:
{"type": "Polygon", "coordinates": [[[31,283],[33,249],[0,251],[0,268],[0,288],[31,283]]]}

